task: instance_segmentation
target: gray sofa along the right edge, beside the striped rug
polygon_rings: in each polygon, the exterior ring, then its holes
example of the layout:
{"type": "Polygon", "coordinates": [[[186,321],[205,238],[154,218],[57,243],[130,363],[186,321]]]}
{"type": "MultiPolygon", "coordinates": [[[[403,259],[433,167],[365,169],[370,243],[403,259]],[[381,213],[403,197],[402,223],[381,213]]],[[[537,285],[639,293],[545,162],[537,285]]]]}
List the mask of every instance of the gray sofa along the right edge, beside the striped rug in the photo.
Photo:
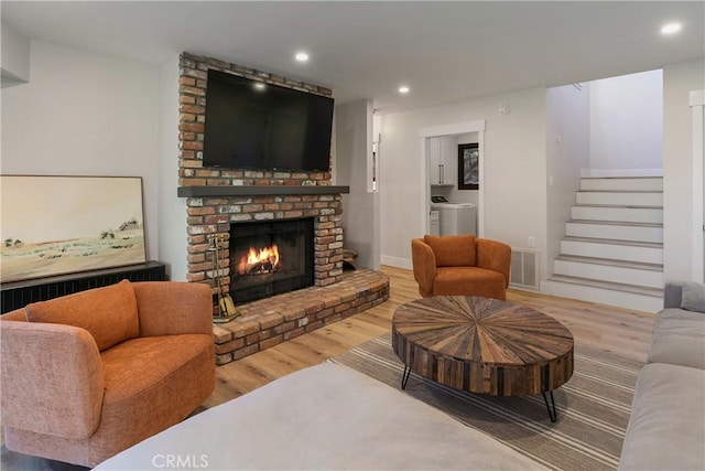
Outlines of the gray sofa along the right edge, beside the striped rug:
{"type": "Polygon", "coordinates": [[[705,286],[666,282],[620,470],[705,470],[705,286]],[[684,309],[686,308],[686,309],[684,309]]]}

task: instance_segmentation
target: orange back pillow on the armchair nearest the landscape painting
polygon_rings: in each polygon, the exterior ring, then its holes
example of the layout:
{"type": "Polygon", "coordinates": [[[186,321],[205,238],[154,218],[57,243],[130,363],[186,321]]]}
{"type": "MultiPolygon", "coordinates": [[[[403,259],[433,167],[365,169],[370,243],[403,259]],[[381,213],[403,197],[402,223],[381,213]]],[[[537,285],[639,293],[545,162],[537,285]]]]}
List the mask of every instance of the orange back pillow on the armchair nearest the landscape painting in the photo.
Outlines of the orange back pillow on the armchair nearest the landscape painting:
{"type": "Polygon", "coordinates": [[[132,285],[117,285],[34,302],[24,308],[30,322],[47,322],[86,329],[99,351],[139,336],[140,320],[132,285]]]}

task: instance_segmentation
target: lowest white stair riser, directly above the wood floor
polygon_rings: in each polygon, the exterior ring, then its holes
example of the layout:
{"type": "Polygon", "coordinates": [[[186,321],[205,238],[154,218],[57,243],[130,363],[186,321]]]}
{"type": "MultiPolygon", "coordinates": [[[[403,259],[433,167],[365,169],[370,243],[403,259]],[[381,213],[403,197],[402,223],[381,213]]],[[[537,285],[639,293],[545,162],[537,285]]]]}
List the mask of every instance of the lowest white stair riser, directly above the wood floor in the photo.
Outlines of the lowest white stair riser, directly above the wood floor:
{"type": "Polygon", "coordinates": [[[557,281],[547,281],[545,288],[542,287],[542,292],[562,298],[579,299],[581,301],[617,306],[623,309],[652,313],[663,308],[663,298],[557,281]]]}

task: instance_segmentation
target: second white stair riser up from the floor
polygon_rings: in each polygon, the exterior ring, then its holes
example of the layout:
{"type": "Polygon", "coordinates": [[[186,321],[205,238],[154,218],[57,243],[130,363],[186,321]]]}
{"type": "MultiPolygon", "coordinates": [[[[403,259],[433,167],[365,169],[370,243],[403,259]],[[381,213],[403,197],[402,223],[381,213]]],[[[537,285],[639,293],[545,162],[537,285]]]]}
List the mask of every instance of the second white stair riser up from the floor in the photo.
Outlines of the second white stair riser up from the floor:
{"type": "Polygon", "coordinates": [[[620,282],[650,288],[663,287],[662,271],[639,270],[636,268],[570,260],[554,260],[553,270],[556,275],[588,278],[599,281],[620,282]]]}

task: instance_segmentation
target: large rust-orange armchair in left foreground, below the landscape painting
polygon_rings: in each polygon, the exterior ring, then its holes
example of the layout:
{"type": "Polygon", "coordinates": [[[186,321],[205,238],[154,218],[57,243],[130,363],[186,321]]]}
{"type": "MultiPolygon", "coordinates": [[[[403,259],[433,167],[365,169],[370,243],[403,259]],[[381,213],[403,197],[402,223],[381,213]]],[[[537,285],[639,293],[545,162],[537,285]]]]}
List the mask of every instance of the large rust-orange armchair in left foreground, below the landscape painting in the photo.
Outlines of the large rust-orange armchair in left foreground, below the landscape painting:
{"type": "Polygon", "coordinates": [[[210,288],[120,281],[0,317],[8,449],[94,467],[215,387],[210,288]]]}

